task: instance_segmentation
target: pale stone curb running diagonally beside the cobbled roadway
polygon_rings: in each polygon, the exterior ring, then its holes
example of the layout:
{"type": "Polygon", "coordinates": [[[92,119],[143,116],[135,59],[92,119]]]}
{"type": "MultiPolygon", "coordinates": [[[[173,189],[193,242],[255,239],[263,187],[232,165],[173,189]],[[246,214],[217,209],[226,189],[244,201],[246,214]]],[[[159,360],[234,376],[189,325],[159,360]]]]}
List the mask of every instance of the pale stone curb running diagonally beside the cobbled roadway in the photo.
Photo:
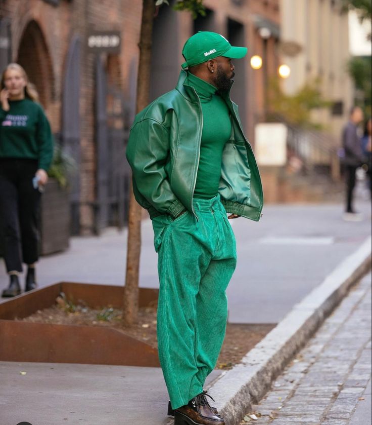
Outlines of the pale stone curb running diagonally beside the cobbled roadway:
{"type": "Polygon", "coordinates": [[[226,424],[238,425],[252,403],[304,346],[327,316],[371,266],[371,238],[340,263],[276,325],[242,362],[223,374],[209,389],[226,424]]]}

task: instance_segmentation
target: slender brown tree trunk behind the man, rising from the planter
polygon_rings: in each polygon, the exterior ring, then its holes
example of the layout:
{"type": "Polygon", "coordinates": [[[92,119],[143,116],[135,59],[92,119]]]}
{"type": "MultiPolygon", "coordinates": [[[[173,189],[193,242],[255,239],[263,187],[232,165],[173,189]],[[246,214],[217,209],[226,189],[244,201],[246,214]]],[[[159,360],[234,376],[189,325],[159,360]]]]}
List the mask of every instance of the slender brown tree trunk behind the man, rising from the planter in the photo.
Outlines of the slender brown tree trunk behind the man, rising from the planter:
{"type": "MultiPolygon", "coordinates": [[[[137,103],[136,113],[149,104],[150,73],[151,73],[151,46],[155,12],[154,0],[143,0],[140,61],[137,72],[137,103]]],[[[134,199],[133,190],[130,190],[128,214],[128,242],[126,276],[124,287],[124,316],[128,325],[136,322],[138,314],[138,275],[141,254],[141,218],[142,208],[134,199]]]]}

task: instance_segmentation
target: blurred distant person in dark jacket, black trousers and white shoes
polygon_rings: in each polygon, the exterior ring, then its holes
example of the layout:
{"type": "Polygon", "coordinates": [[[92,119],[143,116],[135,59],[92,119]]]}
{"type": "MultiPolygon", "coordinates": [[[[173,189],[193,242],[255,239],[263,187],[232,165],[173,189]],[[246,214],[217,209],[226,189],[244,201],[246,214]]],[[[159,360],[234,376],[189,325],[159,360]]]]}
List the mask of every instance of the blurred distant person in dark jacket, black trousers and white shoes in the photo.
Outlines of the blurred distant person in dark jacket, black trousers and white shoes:
{"type": "Polygon", "coordinates": [[[345,157],[345,178],[346,178],[346,212],[345,220],[358,221],[361,215],[353,208],[353,192],[355,187],[356,169],[363,162],[363,151],[358,136],[357,127],[363,121],[363,111],[359,106],[353,106],[350,110],[348,123],[342,131],[342,146],[344,148],[345,157]]]}

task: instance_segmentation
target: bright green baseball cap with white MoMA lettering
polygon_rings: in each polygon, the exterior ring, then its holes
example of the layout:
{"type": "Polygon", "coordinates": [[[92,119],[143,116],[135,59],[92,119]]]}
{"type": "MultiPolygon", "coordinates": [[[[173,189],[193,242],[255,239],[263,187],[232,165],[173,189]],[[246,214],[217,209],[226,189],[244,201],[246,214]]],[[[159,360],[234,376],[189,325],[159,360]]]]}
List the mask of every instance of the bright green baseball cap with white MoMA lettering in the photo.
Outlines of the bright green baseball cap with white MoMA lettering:
{"type": "Polygon", "coordinates": [[[231,46],[226,38],[210,31],[199,31],[184,44],[182,56],[185,61],[182,68],[198,65],[217,56],[241,59],[247,54],[246,47],[231,46]]]}

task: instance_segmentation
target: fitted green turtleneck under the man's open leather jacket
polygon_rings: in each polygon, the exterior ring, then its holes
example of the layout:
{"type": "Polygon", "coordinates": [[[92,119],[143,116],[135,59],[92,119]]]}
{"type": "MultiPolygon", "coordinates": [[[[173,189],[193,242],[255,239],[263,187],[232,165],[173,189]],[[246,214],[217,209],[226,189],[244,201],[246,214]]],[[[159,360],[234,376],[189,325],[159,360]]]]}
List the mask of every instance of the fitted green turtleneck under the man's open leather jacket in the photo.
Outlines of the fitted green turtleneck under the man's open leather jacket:
{"type": "Polygon", "coordinates": [[[222,151],[231,133],[229,109],[222,97],[216,93],[216,87],[192,73],[188,73],[185,84],[195,89],[203,111],[203,131],[194,197],[210,199],[218,193],[222,151]]]}

